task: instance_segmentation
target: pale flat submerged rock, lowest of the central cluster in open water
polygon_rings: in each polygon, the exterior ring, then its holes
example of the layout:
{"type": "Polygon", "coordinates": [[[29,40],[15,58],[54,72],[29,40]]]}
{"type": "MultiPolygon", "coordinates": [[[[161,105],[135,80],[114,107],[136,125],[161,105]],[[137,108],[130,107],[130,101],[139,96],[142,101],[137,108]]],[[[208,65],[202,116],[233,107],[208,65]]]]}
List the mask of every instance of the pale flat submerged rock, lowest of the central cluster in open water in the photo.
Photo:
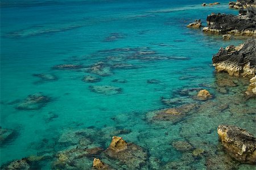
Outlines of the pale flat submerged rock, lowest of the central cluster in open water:
{"type": "Polygon", "coordinates": [[[104,95],[116,95],[122,93],[122,88],[114,86],[89,86],[92,92],[104,95]]]}

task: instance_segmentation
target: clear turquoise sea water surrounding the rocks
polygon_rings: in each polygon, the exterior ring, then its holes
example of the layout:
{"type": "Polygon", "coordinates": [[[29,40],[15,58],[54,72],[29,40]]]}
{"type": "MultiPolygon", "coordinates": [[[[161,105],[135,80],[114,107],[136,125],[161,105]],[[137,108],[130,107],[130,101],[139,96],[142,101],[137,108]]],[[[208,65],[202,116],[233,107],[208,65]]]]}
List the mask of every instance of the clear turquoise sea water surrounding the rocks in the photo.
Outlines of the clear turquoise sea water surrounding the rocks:
{"type": "MultiPolygon", "coordinates": [[[[1,164],[31,155],[55,155],[68,148],[58,145],[61,135],[81,129],[94,133],[90,140],[104,149],[113,135],[143,147],[147,162],[159,160],[156,169],[182,162],[183,152],[172,146],[175,141],[188,141],[205,152],[217,150],[219,124],[255,133],[255,99],[242,102],[248,79],[216,75],[212,66],[212,56],[221,46],[238,45],[245,39],[223,41],[222,36],[185,27],[195,19],[206,25],[211,12],[238,13],[228,8],[228,1],[220,2],[201,7],[201,1],[2,1],[1,127],[14,130],[15,135],[1,145],[1,164]],[[107,76],[89,71],[97,62],[104,62],[107,76]],[[63,64],[82,67],[53,69],[63,64]],[[34,74],[51,74],[56,79],[42,80],[34,74]],[[101,80],[84,82],[86,75],[101,80]],[[237,87],[227,87],[228,92],[220,94],[216,86],[221,77],[237,87]],[[101,94],[93,86],[113,86],[119,91],[101,94]],[[200,101],[205,108],[176,123],[148,118],[150,111],[182,103],[165,105],[163,97],[197,103],[181,95],[181,90],[191,88],[206,88],[214,99],[206,104],[200,101]],[[35,110],[17,109],[28,95],[38,93],[51,101],[35,110]],[[232,105],[232,100],[239,102],[232,105]],[[220,103],[229,108],[221,111],[220,103]],[[120,129],[128,133],[116,133],[120,129]]],[[[203,156],[179,167],[206,169],[207,159],[203,156]]],[[[50,169],[54,161],[53,156],[39,167],[50,169]]],[[[154,168],[148,165],[148,169],[154,168]]]]}

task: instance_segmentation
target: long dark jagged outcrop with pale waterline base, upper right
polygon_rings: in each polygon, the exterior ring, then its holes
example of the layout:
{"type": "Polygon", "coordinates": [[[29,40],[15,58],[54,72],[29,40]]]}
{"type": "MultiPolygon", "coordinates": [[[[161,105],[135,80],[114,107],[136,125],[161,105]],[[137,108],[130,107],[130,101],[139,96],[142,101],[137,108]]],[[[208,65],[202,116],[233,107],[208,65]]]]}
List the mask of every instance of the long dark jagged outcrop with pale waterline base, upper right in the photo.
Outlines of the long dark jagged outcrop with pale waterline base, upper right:
{"type": "Polygon", "coordinates": [[[207,33],[256,36],[256,8],[248,7],[237,16],[212,13],[207,16],[207,24],[203,28],[207,33]]]}

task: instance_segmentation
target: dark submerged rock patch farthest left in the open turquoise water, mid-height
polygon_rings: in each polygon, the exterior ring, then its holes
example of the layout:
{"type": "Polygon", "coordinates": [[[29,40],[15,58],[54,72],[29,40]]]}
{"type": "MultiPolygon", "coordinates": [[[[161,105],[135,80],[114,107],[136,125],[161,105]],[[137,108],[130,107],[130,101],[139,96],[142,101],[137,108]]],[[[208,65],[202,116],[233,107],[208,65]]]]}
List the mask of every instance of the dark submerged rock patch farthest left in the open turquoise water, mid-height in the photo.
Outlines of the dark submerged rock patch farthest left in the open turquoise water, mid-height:
{"type": "Polygon", "coordinates": [[[44,96],[42,94],[28,95],[28,97],[20,103],[16,109],[18,110],[38,110],[44,107],[47,103],[51,101],[50,97],[44,96]]]}

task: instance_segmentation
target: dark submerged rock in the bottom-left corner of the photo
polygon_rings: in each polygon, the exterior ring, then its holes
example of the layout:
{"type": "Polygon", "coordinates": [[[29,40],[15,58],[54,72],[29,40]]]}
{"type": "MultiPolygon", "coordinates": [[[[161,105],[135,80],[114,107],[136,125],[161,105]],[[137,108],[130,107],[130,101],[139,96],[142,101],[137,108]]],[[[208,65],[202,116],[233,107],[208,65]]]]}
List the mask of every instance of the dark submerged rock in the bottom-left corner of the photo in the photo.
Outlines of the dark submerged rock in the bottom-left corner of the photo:
{"type": "Polygon", "coordinates": [[[6,170],[16,170],[16,169],[22,169],[22,170],[28,170],[30,169],[30,165],[27,163],[26,159],[20,159],[15,160],[14,162],[11,162],[6,165],[2,165],[1,169],[6,170]]]}

